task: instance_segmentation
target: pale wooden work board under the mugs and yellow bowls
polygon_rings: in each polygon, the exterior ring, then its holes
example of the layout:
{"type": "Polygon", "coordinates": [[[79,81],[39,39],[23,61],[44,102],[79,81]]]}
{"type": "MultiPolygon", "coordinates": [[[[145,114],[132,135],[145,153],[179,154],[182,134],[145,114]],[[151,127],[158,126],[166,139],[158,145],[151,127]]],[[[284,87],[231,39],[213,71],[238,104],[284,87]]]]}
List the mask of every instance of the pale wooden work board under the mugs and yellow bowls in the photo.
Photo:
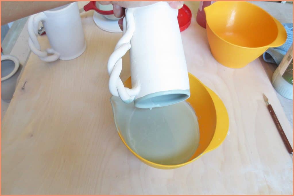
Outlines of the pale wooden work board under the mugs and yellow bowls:
{"type": "MultiPolygon", "coordinates": [[[[113,122],[106,64],[118,33],[81,14],[87,49],[71,61],[31,54],[2,122],[2,194],[293,194],[293,160],[263,101],[271,101],[293,146],[293,132],[256,59],[229,69],[211,56],[206,30],[193,18],[182,40],[188,71],[223,100],[230,119],[219,148],[175,170],[138,160],[113,122]],[[26,82],[25,88],[21,87],[26,82]]],[[[42,48],[49,46],[39,37],[42,48]]],[[[122,80],[130,75],[128,54],[122,80]]]]}

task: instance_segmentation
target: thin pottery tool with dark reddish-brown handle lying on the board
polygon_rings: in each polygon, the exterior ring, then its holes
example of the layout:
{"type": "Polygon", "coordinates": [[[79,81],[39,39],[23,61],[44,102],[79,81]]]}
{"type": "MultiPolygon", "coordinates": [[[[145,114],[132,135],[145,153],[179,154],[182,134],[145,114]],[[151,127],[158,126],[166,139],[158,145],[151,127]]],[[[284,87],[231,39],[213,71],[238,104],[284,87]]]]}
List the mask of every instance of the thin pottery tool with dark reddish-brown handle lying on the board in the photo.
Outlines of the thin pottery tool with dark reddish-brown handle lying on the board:
{"type": "Polygon", "coordinates": [[[284,130],[283,130],[277,116],[275,115],[273,107],[268,103],[268,98],[265,96],[265,94],[263,94],[263,99],[264,99],[266,105],[268,106],[268,111],[270,112],[270,115],[273,118],[273,121],[274,121],[274,123],[275,123],[275,125],[276,125],[276,127],[277,127],[277,129],[278,129],[278,131],[280,133],[280,136],[281,136],[281,138],[282,138],[282,140],[283,140],[283,142],[284,142],[284,144],[285,144],[285,146],[286,146],[286,148],[288,150],[288,153],[290,153],[293,156],[293,149],[292,149],[292,147],[291,147],[291,145],[290,145],[290,143],[289,143],[289,141],[288,141],[288,139],[287,139],[287,137],[285,135],[285,132],[284,132],[284,130]]]}

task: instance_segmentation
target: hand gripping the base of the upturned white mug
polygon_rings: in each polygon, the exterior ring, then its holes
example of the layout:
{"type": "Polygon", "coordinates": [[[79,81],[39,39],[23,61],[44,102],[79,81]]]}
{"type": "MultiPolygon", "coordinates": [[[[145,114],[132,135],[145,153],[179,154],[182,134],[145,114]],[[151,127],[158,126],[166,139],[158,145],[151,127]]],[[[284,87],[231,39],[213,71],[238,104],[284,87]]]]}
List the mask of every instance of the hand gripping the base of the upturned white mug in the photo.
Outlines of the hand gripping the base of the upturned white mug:
{"type": "MultiPolygon", "coordinates": [[[[125,16],[125,9],[129,7],[141,7],[151,4],[155,4],[160,1],[98,1],[101,5],[113,5],[113,14],[117,18],[125,16]]],[[[183,1],[166,1],[173,9],[181,9],[183,7],[183,1]]],[[[118,20],[118,25],[123,29],[123,19],[118,20]]]]}

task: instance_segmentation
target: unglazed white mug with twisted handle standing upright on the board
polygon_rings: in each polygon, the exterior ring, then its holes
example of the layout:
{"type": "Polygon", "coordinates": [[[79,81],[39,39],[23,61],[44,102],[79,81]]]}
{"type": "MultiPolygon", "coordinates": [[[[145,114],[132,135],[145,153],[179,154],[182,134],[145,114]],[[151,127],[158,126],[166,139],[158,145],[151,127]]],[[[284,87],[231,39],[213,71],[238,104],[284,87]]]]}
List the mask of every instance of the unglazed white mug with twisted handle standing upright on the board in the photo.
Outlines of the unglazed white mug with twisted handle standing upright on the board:
{"type": "Polygon", "coordinates": [[[28,21],[29,46],[43,61],[71,60],[86,49],[78,3],[74,2],[30,16],[28,21]],[[41,51],[37,40],[38,25],[42,21],[52,48],[41,51]],[[51,54],[51,55],[49,55],[51,54]]]}

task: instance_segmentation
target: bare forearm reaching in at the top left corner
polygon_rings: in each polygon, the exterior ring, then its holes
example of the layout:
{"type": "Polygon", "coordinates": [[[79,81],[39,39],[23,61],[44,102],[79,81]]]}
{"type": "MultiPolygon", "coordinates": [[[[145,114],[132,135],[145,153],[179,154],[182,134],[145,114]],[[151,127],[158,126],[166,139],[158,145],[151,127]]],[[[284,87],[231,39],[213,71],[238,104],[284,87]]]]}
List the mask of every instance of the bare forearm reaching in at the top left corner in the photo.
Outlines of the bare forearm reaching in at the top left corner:
{"type": "Polygon", "coordinates": [[[1,1],[1,25],[73,1],[1,1]]]}

